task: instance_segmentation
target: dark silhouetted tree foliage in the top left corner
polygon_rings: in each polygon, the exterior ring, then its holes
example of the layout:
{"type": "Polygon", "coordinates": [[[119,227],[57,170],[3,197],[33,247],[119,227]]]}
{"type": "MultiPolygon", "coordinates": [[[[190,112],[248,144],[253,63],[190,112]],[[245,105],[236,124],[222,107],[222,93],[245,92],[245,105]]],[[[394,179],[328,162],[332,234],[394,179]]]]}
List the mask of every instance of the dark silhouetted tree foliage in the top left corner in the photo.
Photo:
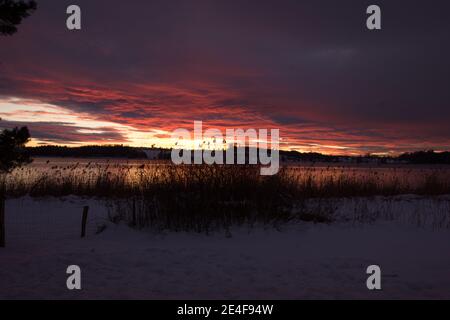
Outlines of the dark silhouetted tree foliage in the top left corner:
{"type": "Polygon", "coordinates": [[[22,19],[36,10],[36,1],[0,0],[0,35],[12,35],[22,19]]]}

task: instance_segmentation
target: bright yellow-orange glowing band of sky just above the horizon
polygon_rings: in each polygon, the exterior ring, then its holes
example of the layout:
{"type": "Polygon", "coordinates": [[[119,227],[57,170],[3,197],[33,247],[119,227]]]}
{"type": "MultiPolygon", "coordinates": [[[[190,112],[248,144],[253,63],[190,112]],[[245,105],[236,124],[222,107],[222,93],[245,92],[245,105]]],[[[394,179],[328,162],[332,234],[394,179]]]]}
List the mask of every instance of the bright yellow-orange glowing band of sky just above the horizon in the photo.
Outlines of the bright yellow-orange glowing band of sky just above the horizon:
{"type": "MultiPolygon", "coordinates": [[[[87,145],[126,145],[142,148],[173,148],[176,147],[177,140],[171,138],[171,133],[175,127],[164,130],[161,128],[151,128],[147,131],[142,128],[124,125],[119,122],[100,120],[92,117],[88,113],[73,112],[54,104],[42,103],[36,100],[24,100],[17,97],[0,98],[0,118],[3,123],[27,125],[31,128],[32,139],[29,146],[58,145],[58,146],[87,146],[87,145]],[[37,124],[45,123],[53,129],[72,130],[73,134],[78,134],[77,139],[86,140],[59,141],[57,139],[33,137],[33,127],[37,124]],[[117,134],[116,138],[109,137],[111,132],[117,134]],[[109,135],[108,135],[109,133],[109,135]],[[89,139],[88,139],[89,138],[89,139]]],[[[185,129],[190,129],[183,122],[185,129]]],[[[191,124],[192,127],[192,124],[191,124]]],[[[247,126],[248,127],[248,126],[247,126]]],[[[244,127],[236,127],[246,129],[244,127]]],[[[226,128],[222,128],[225,129],[226,128]]],[[[53,133],[55,134],[55,133],[53,133]]],[[[358,151],[354,146],[334,144],[321,144],[319,142],[283,139],[280,143],[280,150],[293,150],[299,152],[319,152],[332,155],[362,155],[368,153],[366,150],[358,151]]],[[[211,142],[212,139],[206,139],[211,142]]],[[[196,149],[197,145],[204,141],[185,141],[185,146],[189,149],[196,149]]],[[[201,147],[207,148],[207,147],[201,147]]],[[[423,146],[416,146],[417,150],[426,149],[423,146]]],[[[388,150],[383,152],[373,152],[378,155],[395,155],[401,152],[388,150]]]]}

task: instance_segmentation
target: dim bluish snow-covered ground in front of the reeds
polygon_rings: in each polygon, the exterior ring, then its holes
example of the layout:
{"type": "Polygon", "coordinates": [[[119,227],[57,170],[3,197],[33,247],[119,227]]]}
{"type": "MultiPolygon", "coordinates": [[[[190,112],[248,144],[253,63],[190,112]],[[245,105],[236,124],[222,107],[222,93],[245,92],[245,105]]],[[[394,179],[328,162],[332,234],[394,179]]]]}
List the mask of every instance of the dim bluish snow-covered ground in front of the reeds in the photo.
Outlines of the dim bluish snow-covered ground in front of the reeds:
{"type": "MultiPolygon", "coordinates": [[[[429,199],[398,201],[433,210],[429,199]]],[[[8,200],[6,212],[0,299],[450,298],[450,229],[433,224],[378,216],[371,224],[237,227],[230,236],[136,231],[109,223],[102,202],[74,197],[8,200]],[[80,239],[86,204],[88,236],[80,239]],[[73,264],[81,291],[66,288],[73,264]],[[381,267],[381,291],[366,288],[372,264],[381,267]]]]}

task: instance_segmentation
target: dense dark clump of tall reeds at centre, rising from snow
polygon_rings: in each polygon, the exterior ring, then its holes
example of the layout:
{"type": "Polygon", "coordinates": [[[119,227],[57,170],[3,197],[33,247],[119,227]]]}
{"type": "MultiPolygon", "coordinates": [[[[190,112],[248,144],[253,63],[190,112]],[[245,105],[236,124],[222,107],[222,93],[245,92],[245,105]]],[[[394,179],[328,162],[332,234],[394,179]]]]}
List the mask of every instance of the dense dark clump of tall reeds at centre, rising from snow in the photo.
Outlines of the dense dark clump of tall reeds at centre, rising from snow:
{"type": "Polygon", "coordinates": [[[294,206],[295,187],[286,178],[262,177],[256,166],[168,166],[156,178],[143,171],[138,192],[116,201],[114,212],[137,227],[175,231],[277,224],[294,206]]]}

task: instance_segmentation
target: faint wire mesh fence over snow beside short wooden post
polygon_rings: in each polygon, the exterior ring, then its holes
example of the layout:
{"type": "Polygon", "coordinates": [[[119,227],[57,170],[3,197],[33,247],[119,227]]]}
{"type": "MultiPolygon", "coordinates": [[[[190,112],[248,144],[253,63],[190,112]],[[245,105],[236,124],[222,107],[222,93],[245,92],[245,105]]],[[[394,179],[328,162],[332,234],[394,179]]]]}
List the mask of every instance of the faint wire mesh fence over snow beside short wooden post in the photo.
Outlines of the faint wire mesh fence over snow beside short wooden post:
{"type": "Polygon", "coordinates": [[[108,224],[107,207],[99,200],[80,198],[6,200],[6,245],[79,239],[83,208],[89,207],[86,238],[102,232],[108,224]]]}

